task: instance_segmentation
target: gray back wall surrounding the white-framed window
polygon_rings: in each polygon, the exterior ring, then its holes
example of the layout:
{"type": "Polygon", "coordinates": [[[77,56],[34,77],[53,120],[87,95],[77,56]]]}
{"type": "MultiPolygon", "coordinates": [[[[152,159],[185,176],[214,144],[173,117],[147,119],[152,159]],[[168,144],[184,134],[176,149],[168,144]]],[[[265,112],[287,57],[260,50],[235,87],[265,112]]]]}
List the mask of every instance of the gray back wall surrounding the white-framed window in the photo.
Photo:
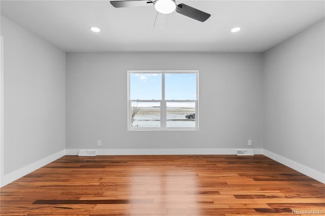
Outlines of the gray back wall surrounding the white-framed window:
{"type": "Polygon", "coordinates": [[[67,149],[262,148],[262,55],[67,53],[67,149]],[[127,131],[127,70],[199,70],[199,131],[127,131]]]}

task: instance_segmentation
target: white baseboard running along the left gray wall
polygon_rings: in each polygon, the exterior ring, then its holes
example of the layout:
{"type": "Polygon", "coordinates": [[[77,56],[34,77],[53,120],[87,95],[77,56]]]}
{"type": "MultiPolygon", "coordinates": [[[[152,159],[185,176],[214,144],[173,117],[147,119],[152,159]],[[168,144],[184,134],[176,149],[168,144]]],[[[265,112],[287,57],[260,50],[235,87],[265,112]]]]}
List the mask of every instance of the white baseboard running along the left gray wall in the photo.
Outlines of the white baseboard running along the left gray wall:
{"type": "Polygon", "coordinates": [[[15,170],[9,174],[6,174],[3,176],[3,178],[1,179],[1,187],[8,185],[9,183],[12,183],[13,181],[17,180],[18,178],[21,178],[22,176],[35,171],[39,168],[41,168],[42,166],[45,166],[46,164],[49,164],[53,161],[55,161],[56,159],[59,159],[60,157],[66,155],[66,150],[62,150],[60,152],[54,153],[53,155],[50,155],[46,158],[43,158],[39,161],[36,161],[32,164],[29,164],[27,166],[24,166],[18,170],[15,170]]]}

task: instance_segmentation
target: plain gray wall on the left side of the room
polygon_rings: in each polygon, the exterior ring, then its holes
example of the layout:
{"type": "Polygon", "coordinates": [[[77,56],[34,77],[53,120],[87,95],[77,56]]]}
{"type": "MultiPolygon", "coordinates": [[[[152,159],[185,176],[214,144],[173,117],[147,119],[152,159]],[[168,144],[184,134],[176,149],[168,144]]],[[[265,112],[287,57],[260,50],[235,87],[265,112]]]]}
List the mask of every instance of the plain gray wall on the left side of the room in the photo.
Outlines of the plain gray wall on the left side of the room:
{"type": "Polygon", "coordinates": [[[1,17],[4,174],[65,149],[66,53],[1,17]]]}

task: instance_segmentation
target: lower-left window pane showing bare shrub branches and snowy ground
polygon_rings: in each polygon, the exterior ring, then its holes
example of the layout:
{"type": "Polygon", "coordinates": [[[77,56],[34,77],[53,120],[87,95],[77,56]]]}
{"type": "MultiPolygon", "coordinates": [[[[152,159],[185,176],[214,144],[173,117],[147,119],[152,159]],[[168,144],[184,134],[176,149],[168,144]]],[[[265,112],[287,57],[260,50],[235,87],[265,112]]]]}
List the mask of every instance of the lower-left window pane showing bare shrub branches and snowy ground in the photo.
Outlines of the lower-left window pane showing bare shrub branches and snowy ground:
{"type": "Polygon", "coordinates": [[[160,102],[131,102],[131,127],[160,127],[160,102]]]}

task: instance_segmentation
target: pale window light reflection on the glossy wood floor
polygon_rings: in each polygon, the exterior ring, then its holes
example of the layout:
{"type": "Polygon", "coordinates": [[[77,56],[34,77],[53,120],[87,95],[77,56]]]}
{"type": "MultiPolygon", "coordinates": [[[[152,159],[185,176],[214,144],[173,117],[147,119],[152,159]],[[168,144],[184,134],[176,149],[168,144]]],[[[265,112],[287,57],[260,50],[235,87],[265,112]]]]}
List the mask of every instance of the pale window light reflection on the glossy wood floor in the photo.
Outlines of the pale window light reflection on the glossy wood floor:
{"type": "Polygon", "coordinates": [[[187,170],[175,170],[174,167],[149,170],[134,170],[131,179],[131,196],[128,199],[153,200],[153,203],[131,204],[130,215],[152,214],[177,215],[189,211],[199,215],[194,191],[197,187],[197,174],[187,170]],[[173,212],[175,211],[175,212],[173,212]]]}

